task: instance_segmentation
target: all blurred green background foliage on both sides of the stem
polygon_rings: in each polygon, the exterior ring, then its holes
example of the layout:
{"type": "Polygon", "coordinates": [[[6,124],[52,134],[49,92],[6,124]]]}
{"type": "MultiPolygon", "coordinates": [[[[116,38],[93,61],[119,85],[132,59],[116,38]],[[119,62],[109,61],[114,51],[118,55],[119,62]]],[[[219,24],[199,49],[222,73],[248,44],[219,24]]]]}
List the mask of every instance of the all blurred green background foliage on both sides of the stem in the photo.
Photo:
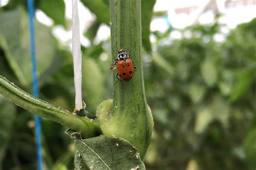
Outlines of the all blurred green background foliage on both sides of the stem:
{"type": "MultiPolygon", "coordinates": [[[[84,33],[91,46],[82,47],[83,99],[95,113],[101,101],[112,98],[110,40],[93,43],[99,26],[109,24],[108,2],[82,2],[97,17],[84,33]]],[[[256,19],[228,34],[218,18],[210,25],[152,32],[156,42],[149,54],[154,2],[142,10],[145,90],[155,122],[147,169],[255,169],[256,19]],[[182,38],[172,39],[173,32],[182,38]],[[224,42],[215,40],[219,35],[224,42]]],[[[68,29],[63,3],[45,3],[37,0],[35,8],[68,29]]],[[[31,92],[26,1],[1,8],[0,22],[0,74],[31,92]]],[[[71,52],[51,29],[36,22],[40,98],[72,111],[71,52]]],[[[33,115],[1,96],[0,108],[0,169],[36,169],[33,115]]],[[[42,123],[44,167],[73,169],[73,142],[65,127],[42,123]]]]}

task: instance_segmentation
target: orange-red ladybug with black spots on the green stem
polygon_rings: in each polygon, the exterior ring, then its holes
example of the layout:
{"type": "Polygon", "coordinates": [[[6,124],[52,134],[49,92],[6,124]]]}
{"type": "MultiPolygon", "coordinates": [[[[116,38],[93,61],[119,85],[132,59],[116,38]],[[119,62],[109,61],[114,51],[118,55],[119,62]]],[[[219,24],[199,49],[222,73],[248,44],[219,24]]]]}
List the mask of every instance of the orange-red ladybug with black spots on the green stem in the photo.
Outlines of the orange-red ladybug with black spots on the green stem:
{"type": "Polygon", "coordinates": [[[123,49],[118,50],[117,59],[114,61],[112,65],[116,65],[117,67],[117,82],[120,80],[118,76],[124,81],[130,81],[136,67],[133,66],[132,59],[129,58],[129,53],[123,49]]]}

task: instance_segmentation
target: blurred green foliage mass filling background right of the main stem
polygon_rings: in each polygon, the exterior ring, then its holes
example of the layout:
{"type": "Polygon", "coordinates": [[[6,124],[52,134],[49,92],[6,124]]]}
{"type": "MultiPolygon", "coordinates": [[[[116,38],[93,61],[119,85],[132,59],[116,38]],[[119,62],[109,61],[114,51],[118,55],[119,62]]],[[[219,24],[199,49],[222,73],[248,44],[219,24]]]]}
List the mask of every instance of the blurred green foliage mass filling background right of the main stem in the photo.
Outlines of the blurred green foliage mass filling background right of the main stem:
{"type": "Polygon", "coordinates": [[[148,169],[255,169],[255,24],[224,42],[214,40],[218,21],[180,30],[181,39],[154,33],[144,72],[155,121],[148,169]]]}

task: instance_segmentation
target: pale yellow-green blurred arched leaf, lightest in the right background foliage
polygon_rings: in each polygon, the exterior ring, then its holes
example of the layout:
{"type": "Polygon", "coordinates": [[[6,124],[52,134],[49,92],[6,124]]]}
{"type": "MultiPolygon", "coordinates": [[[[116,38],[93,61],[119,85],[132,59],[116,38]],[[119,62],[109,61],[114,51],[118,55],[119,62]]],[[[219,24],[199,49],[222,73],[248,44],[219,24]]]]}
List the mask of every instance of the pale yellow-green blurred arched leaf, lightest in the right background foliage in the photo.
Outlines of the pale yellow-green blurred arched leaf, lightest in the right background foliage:
{"type": "Polygon", "coordinates": [[[195,132],[203,133],[213,120],[219,120],[224,127],[227,127],[229,112],[227,101],[218,96],[214,97],[212,103],[204,106],[197,113],[195,132]]]}

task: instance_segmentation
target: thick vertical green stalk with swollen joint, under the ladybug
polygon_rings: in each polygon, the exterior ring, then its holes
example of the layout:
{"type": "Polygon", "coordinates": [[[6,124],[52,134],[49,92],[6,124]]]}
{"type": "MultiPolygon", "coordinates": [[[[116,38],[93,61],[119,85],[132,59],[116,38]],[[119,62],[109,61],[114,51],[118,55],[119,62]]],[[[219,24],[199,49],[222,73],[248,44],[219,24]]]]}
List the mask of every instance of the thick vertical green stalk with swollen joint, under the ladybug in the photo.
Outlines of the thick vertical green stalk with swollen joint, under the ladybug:
{"type": "Polygon", "coordinates": [[[143,159],[149,146],[153,120],[146,104],[142,70],[142,24],[140,0],[110,0],[112,60],[119,49],[130,52],[137,66],[133,78],[116,83],[113,73],[113,103],[107,100],[98,108],[104,134],[128,140],[143,159]],[[105,112],[105,113],[104,113],[105,112]],[[110,115],[111,113],[111,115],[110,115]],[[102,121],[103,122],[103,121],[102,121]]]}

